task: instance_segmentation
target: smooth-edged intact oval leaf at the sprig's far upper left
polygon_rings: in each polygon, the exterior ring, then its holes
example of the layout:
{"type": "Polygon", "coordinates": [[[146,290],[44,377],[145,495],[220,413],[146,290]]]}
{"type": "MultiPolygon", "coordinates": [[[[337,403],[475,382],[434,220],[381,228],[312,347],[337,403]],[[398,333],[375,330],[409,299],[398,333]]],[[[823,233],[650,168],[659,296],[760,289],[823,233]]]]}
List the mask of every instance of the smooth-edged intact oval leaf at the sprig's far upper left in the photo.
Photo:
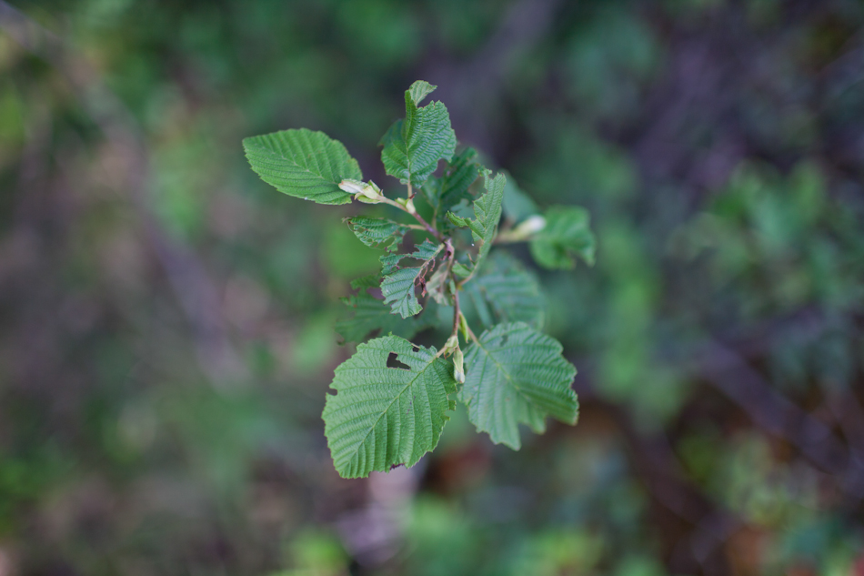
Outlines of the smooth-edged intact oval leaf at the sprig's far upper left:
{"type": "Polygon", "coordinates": [[[251,136],[243,140],[243,148],[252,169],[267,184],[318,204],[347,204],[351,195],[339,189],[339,182],[363,179],[357,160],[323,132],[301,128],[251,136]]]}

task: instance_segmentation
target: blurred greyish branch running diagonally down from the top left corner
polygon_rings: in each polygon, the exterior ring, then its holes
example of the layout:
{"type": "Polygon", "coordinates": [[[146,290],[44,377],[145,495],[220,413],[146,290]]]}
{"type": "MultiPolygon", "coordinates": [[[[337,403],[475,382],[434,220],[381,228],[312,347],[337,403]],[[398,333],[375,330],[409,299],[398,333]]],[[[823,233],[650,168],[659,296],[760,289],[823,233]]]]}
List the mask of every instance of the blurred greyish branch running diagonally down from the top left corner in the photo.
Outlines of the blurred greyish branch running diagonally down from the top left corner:
{"type": "Polygon", "coordinates": [[[144,138],[126,106],[108,90],[95,69],[63,40],[0,0],[0,29],[65,76],[96,126],[113,147],[128,152],[133,168],[128,193],[195,337],[198,363],[215,383],[242,378],[243,364],[228,339],[219,296],[203,264],[190,248],[170,237],[147,197],[149,159],[144,138]]]}

